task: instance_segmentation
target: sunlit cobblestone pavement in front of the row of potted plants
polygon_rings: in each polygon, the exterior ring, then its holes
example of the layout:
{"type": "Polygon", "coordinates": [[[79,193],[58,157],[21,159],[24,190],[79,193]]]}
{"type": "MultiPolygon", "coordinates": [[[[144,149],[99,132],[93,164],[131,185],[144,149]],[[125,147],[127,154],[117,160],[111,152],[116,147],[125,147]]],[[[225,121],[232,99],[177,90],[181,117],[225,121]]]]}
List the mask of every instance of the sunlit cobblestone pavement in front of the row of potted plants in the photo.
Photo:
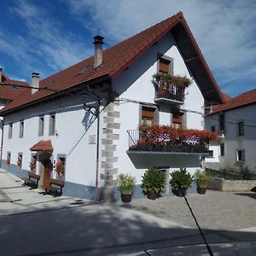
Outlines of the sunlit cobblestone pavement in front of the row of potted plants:
{"type": "MultiPolygon", "coordinates": [[[[195,218],[204,229],[241,230],[256,226],[256,193],[254,192],[207,190],[206,195],[187,195],[187,199],[195,218]]],[[[133,199],[129,205],[121,202],[120,205],[195,227],[195,221],[184,198],[165,196],[156,201],[146,198],[133,199]]]]}

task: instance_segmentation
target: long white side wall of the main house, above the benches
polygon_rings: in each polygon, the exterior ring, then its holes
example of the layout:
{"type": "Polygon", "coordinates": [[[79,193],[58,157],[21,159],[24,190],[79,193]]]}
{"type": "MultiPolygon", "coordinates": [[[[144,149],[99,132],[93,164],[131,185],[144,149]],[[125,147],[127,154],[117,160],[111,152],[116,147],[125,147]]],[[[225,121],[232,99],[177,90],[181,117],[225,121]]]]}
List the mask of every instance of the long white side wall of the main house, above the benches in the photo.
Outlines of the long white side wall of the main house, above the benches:
{"type": "Polygon", "coordinates": [[[18,153],[21,152],[22,169],[29,170],[32,153],[29,148],[40,140],[51,140],[53,160],[56,160],[57,154],[66,154],[66,181],[95,186],[96,144],[89,144],[89,136],[96,135],[96,122],[84,134],[84,114],[81,98],[74,96],[6,116],[3,160],[7,158],[7,152],[11,152],[11,163],[16,164],[18,153]],[[55,113],[55,136],[49,136],[49,113],[55,113]],[[38,117],[41,114],[44,114],[43,137],[38,136],[38,117]],[[21,119],[24,119],[22,138],[19,137],[21,119]],[[8,137],[9,123],[13,123],[11,139],[8,137]]]}

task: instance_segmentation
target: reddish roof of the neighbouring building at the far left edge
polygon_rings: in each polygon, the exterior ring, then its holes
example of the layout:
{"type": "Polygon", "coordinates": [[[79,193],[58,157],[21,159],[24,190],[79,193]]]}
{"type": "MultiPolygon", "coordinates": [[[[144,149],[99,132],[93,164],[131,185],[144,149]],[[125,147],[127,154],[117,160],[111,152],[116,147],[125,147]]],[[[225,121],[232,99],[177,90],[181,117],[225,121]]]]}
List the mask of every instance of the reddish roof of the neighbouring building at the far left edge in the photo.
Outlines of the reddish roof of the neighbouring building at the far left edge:
{"type": "Polygon", "coordinates": [[[27,89],[25,88],[29,84],[23,81],[9,79],[6,74],[2,74],[4,84],[0,84],[0,100],[13,101],[18,96],[23,94],[27,89]],[[9,84],[13,84],[12,86],[9,84]],[[18,85],[18,86],[17,86],[18,85]],[[22,87],[25,86],[25,87],[22,87]]]}

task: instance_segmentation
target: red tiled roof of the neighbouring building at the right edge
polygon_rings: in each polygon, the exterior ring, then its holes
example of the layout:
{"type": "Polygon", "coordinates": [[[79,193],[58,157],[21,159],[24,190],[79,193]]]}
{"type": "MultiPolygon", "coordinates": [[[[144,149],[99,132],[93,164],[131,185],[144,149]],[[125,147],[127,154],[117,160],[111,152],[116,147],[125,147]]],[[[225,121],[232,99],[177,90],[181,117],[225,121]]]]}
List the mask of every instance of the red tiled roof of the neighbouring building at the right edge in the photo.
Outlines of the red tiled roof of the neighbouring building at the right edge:
{"type": "Polygon", "coordinates": [[[209,113],[209,115],[224,112],[224,111],[229,111],[234,108],[243,108],[243,107],[246,107],[247,105],[251,105],[255,103],[256,103],[256,89],[249,90],[247,92],[242,93],[239,96],[231,98],[228,102],[213,106],[212,112],[209,113]]]}

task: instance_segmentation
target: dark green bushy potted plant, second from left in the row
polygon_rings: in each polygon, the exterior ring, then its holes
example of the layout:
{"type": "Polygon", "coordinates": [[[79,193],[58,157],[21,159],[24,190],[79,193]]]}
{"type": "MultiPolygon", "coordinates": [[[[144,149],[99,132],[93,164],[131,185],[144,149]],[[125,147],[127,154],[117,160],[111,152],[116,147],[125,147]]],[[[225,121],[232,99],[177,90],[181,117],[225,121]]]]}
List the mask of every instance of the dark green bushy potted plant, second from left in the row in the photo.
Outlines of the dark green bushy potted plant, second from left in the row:
{"type": "Polygon", "coordinates": [[[155,200],[163,192],[166,185],[166,174],[153,167],[148,168],[143,175],[143,194],[148,195],[148,199],[155,200]]]}

